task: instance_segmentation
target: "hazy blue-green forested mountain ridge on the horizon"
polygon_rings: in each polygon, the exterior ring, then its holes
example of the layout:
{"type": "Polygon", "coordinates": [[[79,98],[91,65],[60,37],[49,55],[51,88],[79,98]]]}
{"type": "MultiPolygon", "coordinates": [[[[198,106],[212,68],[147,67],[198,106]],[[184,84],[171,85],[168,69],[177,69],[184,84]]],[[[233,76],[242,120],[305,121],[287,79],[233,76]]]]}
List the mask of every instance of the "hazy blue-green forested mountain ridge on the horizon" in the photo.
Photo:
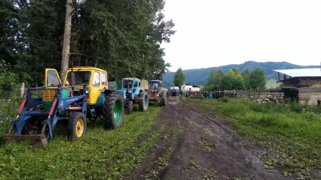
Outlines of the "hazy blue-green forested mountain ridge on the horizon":
{"type": "MultiPolygon", "coordinates": [[[[289,62],[255,62],[255,61],[246,61],[242,64],[230,64],[225,66],[216,67],[217,69],[222,69],[227,73],[231,68],[238,68],[241,72],[245,69],[253,70],[257,67],[262,67],[266,72],[267,79],[278,79],[278,74],[272,70],[284,70],[284,69],[303,69],[303,68],[320,68],[320,66],[300,66],[296,64],[291,64],[289,62]]],[[[213,67],[212,67],[213,68],[213,67]]],[[[186,83],[192,85],[201,85],[203,86],[206,82],[206,78],[212,68],[201,68],[201,69],[192,69],[184,70],[186,74],[186,83]]],[[[171,87],[174,86],[173,78],[175,72],[167,72],[163,76],[163,86],[171,87]]]]}

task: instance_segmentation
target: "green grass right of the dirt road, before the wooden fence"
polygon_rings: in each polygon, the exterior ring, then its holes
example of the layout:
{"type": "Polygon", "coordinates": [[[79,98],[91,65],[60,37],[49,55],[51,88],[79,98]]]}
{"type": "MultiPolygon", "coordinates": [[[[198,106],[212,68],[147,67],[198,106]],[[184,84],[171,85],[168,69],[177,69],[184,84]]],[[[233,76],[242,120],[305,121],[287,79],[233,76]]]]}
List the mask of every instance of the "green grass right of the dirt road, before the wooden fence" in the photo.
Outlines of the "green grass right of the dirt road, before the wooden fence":
{"type": "Polygon", "coordinates": [[[284,176],[294,172],[309,179],[308,167],[321,169],[321,109],[297,103],[256,103],[253,100],[186,99],[209,113],[220,114],[241,134],[280,153],[273,157],[259,154],[268,170],[276,164],[284,176]],[[272,159],[271,159],[272,158],[272,159]]]}

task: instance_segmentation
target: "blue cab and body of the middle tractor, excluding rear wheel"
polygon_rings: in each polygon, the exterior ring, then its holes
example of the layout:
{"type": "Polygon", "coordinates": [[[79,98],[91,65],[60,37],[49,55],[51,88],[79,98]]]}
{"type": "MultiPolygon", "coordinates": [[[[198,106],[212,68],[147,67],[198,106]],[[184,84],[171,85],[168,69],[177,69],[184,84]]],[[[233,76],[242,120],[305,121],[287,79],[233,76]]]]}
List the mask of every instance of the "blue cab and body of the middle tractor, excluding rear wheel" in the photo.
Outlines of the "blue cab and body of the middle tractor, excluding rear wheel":
{"type": "Polygon", "coordinates": [[[138,78],[123,78],[121,89],[116,90],[124,99],[134,100],[141,91],[141,80],[138,78]]]}

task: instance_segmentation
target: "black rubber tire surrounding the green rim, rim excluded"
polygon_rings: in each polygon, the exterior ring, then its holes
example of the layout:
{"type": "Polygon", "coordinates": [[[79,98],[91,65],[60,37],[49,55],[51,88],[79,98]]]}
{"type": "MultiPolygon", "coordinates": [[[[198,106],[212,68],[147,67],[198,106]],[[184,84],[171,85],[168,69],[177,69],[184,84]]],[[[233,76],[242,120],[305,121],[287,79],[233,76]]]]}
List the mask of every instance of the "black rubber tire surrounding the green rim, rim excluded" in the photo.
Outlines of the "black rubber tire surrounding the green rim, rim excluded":
{"type": "Polygon", "coordinates": [[[103,117],[104,129],[116,129],[118,127],[121,127],[124,120],[124,102],[120,94],[114,92],[106,96],[103,107],[103,117]],[[117,100],[119,100],[121,103],[120,120],[118,121],[118,123],[116,123],[114,117],[114,107],[117,100]]]}

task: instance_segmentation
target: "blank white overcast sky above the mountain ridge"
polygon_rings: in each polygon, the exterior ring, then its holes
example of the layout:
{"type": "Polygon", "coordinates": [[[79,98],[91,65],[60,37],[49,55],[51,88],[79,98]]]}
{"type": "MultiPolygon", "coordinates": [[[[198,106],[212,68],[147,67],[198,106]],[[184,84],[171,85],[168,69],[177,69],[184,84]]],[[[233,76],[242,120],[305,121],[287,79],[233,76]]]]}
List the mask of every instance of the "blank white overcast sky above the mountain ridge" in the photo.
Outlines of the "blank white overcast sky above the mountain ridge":
{"type": "Polygon", "coordinates": [[[319,65],[321,0],[167,0],[176,34],[165,48],[170,71],[287,61],[319,65]]]}

